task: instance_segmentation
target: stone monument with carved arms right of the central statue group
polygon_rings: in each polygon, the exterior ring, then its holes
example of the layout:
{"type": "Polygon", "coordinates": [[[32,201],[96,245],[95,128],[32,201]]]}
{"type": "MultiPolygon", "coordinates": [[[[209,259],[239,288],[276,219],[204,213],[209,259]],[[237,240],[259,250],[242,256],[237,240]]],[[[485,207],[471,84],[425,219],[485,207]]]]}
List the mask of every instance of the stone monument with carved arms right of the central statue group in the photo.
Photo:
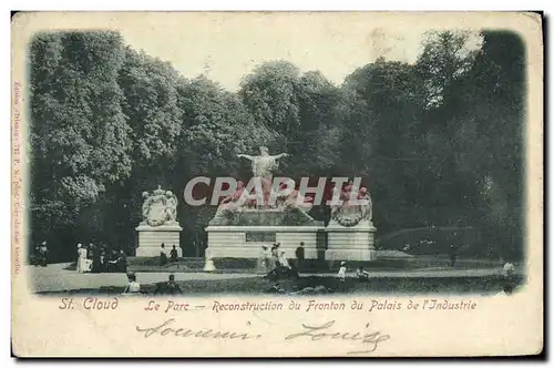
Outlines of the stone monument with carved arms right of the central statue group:
{"type": "Polygon", "coordinates": [[[335,188],[331,203],[331,219],[326,227],[326,260],[373,260],[376,227],[372,219],[372,203],[369,192],[350,182],[345,188],[335,188]]]}

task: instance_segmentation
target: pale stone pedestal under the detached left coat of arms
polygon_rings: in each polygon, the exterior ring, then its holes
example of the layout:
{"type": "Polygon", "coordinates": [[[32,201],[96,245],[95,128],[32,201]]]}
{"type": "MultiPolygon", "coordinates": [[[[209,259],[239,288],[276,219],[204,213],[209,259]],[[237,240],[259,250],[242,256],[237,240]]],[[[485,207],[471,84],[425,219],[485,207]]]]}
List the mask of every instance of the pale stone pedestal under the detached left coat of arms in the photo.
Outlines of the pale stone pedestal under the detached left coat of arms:
{"type": "Polygon", "coordinates": [[[170,257],[173,245],[177,249],[177,256],[183,256],[183,249],[179,246],[179,235],[183,227],[178,224],[161,226],[140,225],[136,227],[136,231],[138,232],[137,257],[160,256],[160,246],[162,243],[165,245],[167,257],[170,257]]]}

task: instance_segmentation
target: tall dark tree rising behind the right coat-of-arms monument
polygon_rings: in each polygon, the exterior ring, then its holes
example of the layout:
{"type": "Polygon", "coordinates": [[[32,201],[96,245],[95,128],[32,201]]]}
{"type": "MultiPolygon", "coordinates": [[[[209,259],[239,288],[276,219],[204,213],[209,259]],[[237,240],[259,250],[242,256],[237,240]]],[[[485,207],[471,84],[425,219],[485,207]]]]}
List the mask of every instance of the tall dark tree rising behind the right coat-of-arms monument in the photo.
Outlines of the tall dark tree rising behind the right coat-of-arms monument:
{"type": "Polygon", "coordinates": [[[417,133],[422,110],[422,83],[412,65],[378,59],[348,75],[342,89],[343,108],[340,161],[342,172],[361,176],[373,196],[378,226],[414,224],[411,216],[419,177],[408,176],[417,154],[417,133]],[[394,184],[392,184],[394,183],[394,184]],[[398,218],[396,216],[406,216],[398,218]]]}

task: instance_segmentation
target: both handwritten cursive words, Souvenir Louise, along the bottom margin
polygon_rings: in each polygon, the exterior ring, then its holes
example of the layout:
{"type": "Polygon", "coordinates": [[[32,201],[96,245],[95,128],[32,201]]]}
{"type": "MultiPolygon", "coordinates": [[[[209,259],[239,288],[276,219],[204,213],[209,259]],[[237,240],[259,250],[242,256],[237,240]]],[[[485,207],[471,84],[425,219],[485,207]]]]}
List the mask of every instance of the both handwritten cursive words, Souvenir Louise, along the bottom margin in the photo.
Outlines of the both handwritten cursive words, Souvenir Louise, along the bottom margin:
{"type": "MultiPolygon", "coordinates": [[[[136,326],[136,331],[144,334],[144,338],[148,338],[153,335],[168,336],[168,337],[191,337],[191,338],[206,338],[206,339],[240,339],[250,340],[259,339],[263,336],[260,334],[247,333],[247,331],[224,331],[214,330],[212,328],[207,329],[193,329],[187,327],[174,327],[176,320],[174,318],[165,320],[163,324],[155,327],[140,327],[136,326]]],[[[289,334],[285,336],[285,340],[293,339],[309,339],[311,341],[321,340],[342,340],[342,341],[359,341],[365,349],[348,351],[347,354],[368,354],[377,350],[379,344],[384,343],[390,339],[387,334],[381,334],[377,330],[370,330],[370,325],[367,324],[363,331],[357,333],[343,333],[331,330],[335,325],[335,320],[327,321],[322,325],[301,325],[301,330],[289,334]]]]}

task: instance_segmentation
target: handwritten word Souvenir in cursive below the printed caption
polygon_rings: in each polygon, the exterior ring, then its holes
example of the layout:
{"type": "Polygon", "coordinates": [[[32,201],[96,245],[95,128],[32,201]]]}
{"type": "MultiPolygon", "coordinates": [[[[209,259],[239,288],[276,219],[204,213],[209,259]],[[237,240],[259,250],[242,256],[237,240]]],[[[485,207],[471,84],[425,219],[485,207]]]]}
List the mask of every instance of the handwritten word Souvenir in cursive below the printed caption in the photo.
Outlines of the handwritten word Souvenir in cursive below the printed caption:
{"type": "Polygon", "coordinates": [[[211,338],[211,339],[258,339],[261,335],[250,335],[248,333],[233,333],[233,331],[217,331],[212,328],[208,329],[191,329],[186,327],[168,327],[175,323],[174,318],[167,319],[160,326],[155,327],[138,327],[137,333],[144,333],[144,338],[148,338],[154,334],[170,337],[193,337],[193,338],[211,338]]]}

